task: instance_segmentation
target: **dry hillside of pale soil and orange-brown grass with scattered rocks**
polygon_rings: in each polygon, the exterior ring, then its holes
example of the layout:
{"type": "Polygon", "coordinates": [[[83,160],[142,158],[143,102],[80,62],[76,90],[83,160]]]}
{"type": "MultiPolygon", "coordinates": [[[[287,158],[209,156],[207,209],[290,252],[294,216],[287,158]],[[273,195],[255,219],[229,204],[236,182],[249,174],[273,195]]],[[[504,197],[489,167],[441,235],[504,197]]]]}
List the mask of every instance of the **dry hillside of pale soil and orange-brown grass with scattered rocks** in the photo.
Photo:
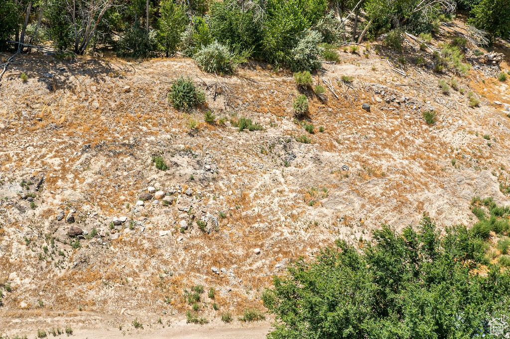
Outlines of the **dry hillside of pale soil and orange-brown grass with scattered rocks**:
{"type": "MultiPolygon", "coordinates": [[[[444,40],[458,32],[444,28],[444,40]]],[[[510,80],[496,78],[510,69],[507,47],[499,66],[468,48],[466,77],[416,67],[432,50],[411,38],[405,48],[405,63],[378,42],[340,49],[342,61],[314,76],[322,99],[254,62],[216,76],[180,57],[17,58],[0,86],[0,284],[10,286],[0,334],[182,325],[196,285],[207,326],[227,326],[219,318],[230,310],[228,326],[239,327],[245,308],[263,309],[274,274],[338,238],[363,246],[381,223],[401,228],[424,212],[441,227],[470,225],[475,195],[510,204],[510,80]],[[181,75],[205,91],[205,107],[171,107],[181,75]],[[452,77],[464,95],[442,93],[438,80],[452,77]],[[294,120],[300,93],[314,133],[294,120]],[[225,124],[206,123],[206,109],[225,124]],[[423,118],[430,109],[434,125],[423,118]],[[242,117],[264,129],[239,132],[230,120],[242,117]],[[137,205],[149,187],[164,194],[137,205]],[[72,226],[85,231],[78,243],[72,226]]]]}

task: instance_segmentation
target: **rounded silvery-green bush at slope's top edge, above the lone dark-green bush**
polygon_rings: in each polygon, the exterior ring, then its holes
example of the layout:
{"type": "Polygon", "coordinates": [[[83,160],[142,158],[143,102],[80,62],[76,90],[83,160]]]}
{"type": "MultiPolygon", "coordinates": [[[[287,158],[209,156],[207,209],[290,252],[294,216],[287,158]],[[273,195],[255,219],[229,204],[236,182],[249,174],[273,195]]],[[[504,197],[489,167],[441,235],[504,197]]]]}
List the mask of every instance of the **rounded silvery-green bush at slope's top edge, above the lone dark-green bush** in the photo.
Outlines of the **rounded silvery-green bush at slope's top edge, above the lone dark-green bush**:
{"type": "Polygon", "coordinates": [[[193,58],[204,71],[209,73],[231,74],[234,70],[234,55],[217,41],[202,46],[193,58]]]}

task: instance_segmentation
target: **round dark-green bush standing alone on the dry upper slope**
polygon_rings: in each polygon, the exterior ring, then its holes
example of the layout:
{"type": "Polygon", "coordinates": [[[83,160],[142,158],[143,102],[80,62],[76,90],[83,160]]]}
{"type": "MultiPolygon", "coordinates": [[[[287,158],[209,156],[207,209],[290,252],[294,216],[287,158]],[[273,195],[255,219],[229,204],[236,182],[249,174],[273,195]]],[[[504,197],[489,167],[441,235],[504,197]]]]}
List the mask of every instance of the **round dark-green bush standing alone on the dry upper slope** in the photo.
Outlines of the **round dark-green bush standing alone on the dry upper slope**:
{"type": "Polygon", "coordinates": [[[168,100],[176,109],[191,109],[206,102],[206,95],[197,90],[191,77],[173,81],[168,100]]]}

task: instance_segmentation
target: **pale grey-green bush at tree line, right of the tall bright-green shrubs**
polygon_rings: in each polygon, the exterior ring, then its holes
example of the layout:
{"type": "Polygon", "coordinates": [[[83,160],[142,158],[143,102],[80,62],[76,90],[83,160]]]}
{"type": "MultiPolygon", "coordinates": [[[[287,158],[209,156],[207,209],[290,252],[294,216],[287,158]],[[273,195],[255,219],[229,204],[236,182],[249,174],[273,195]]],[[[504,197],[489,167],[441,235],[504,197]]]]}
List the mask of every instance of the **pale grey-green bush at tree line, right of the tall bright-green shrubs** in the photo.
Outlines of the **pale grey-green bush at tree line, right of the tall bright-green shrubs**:
{"type": "Polygon", "coordinates": [[[321,40],[322,36],[316,31],[301,33],[297,45],[290,51],[291,70],[313,71],[320,68],[323,52],[323,48],[319,46],[321,40]]]}

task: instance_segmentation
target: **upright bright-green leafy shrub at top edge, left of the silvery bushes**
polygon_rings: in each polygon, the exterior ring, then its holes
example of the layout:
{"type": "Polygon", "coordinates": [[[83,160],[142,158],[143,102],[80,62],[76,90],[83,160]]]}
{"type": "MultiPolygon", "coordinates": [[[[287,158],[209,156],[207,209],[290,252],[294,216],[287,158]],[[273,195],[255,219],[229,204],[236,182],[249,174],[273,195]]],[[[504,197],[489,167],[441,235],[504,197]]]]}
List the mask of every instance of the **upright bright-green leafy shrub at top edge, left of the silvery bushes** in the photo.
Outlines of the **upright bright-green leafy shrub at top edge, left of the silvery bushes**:
{"type": "Polygon", "coordinates": [[[160,50],[168,56],[177,50],[181,35],[188,24],[188,16],[186,15],[186,9],[175,4],[173,0],[162,0],[160,2],[160,13],[157,41],[160,50]]]}

